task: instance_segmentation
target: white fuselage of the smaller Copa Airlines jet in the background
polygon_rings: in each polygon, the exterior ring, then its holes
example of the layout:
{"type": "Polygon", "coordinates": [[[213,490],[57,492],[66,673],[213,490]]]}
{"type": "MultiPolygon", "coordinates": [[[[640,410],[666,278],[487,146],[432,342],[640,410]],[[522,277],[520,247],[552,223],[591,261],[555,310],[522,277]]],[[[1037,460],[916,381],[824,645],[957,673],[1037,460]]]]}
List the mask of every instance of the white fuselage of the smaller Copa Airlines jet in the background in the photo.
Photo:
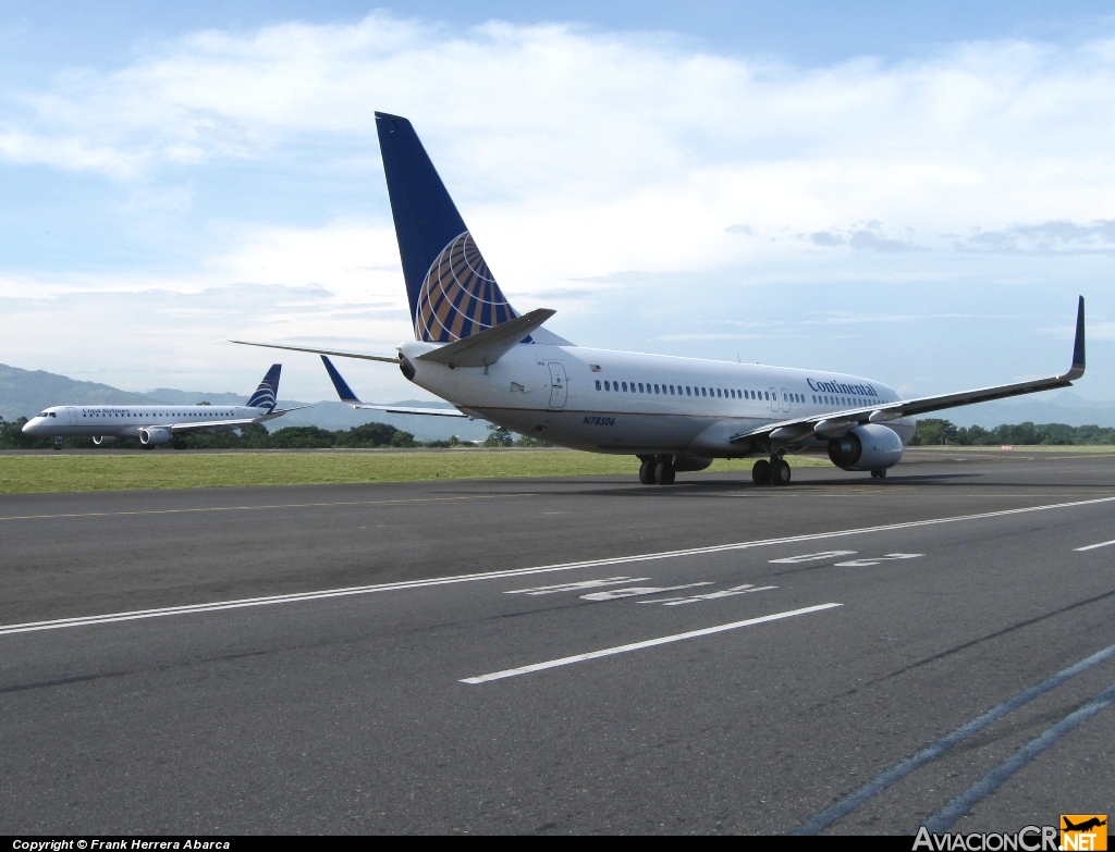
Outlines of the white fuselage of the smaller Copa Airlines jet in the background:
{"type": "Polygon", "coordinates": [[[55,405],[27,421],[23,431],[48,438],[138,438],[142,429],[249,420],[268,411],[246,405],[55,405]]]}

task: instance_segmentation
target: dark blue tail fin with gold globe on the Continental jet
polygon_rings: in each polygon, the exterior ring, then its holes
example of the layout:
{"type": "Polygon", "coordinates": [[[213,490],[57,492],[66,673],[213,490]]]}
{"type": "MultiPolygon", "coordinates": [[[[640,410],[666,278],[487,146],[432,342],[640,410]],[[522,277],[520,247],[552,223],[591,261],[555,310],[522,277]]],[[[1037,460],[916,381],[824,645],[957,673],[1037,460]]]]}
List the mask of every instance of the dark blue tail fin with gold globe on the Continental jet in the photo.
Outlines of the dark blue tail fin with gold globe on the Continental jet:
{"type": "Polygon", "coordinates": [[[453,343],[518,316],[410,123],[376,112],[376,131],[415,337],[453,343]]]}

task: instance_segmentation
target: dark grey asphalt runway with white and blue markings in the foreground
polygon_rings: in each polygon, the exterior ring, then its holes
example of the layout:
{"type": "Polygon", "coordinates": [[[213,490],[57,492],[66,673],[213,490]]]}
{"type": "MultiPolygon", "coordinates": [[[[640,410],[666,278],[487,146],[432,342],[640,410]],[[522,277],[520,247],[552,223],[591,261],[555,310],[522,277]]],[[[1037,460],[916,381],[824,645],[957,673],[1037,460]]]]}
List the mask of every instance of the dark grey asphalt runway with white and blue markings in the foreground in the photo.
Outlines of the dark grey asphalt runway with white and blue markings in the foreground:
{"type": "Polygon", "coordinates": [[[0,830],[1106,813],[1115,456],[0,497],[0,830]]]}

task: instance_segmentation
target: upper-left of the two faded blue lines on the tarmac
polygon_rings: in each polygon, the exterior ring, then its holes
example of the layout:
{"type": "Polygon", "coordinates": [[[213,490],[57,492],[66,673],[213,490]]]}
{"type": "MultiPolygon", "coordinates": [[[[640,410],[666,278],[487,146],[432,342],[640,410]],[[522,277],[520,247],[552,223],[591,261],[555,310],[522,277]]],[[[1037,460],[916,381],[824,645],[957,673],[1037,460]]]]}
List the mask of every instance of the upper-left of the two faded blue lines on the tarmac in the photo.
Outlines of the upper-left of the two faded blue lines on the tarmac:
{"type": "Polygon", "coordinates": [[[920,770],[927,763],[935,761],[957,743],[963,742],[973,734],[979,733],[992,722],[997,722],[1008,713],[1014,713],[1016,709],[1034,701],[1039,695],[1044,695],[1050,689],[1055,689],[1070,677],[1075,677],[1082,672],[1086,672],[1093,666],[1096,666],[1106,659],[1111,659],[1112,657],[1115,657],[1115,645],[1109,645],[1103,650],[1096,652],[1090,657],[1085,657],[1079,663],[1076,663],[1068,668],[1058,672],[1051,677],[1046,678],[1041,683],[1031,686],[1029,689],[1019,693],[1014,698],[1008,698],[1002,704],[996,705],[982,716],[977,716],[971,722],[961,725],[951,734],[948,734],[932,745],[922,748],[912,757],[908,757],[896,766],[880,773],[851,795],[842,799],[836,804],[826,807],[813,819],[806,820],[789,833],[817,834],[824,831],[837,820],[842,820],[847,816],[864,802],[874,799],[884,790],[900,782],[906,775],[920,770]]]}

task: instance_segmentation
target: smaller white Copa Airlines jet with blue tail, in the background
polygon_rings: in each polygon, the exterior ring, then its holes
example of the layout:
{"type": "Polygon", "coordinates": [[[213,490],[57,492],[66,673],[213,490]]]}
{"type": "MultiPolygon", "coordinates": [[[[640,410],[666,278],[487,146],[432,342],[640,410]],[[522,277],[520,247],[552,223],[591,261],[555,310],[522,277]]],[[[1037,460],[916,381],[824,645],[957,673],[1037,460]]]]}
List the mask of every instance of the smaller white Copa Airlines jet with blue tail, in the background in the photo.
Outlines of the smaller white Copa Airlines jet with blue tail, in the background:
{"type": "Polygon", "coordinates": [[[297,411],[274,410],[281,371],[282,364],[273,364],[244,405],[55,405],[28,420],[23,431],[54,438],[56,450],[72,435],[88,435],[96,447],[138,438],[145,450],[174,441],[181,450],[187,434],[229,432],[297,411]]]}

